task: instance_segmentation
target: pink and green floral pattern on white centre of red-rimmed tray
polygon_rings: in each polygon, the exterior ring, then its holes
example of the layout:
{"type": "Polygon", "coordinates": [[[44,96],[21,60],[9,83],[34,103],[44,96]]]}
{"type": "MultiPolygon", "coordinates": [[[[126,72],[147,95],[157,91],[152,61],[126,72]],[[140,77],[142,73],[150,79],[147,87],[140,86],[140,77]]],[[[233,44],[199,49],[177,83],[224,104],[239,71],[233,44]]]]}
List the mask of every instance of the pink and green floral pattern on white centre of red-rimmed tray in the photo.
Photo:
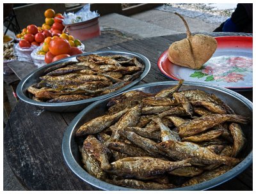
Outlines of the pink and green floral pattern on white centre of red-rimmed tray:
{"type": "Polygon", "coordinates": [[[191,78],[204,78],[211,82],[239,82],[243,81],[247,73],[252,73],[252,58],[237,56],[214,57],[207,61],[198,71],[190,75],[191,78]]]}

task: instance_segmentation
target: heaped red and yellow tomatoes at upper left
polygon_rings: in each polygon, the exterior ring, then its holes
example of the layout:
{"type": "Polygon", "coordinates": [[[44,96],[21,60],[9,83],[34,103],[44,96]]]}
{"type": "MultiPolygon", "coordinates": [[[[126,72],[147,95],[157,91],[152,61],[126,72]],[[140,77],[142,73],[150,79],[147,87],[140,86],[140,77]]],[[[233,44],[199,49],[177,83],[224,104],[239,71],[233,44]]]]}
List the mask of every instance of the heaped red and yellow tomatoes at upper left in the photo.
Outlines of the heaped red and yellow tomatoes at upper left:
{"type": "Polygon", "coordinates": [[[55,14],[52,9],[45,10],[45,23],[42,27],[33,24],[22,29],[22,33],[17,34],[20,38],[19,47],[28,48],[31,45],[40,46],[37,54],[45,55],[45,63],[52,63],[64,57],[74,56],[83,53],[78,46],[81,41],[74,40],[73,36],[62,33],[65,26],[62,24],[64,19],[61,13],[55,14]]]}

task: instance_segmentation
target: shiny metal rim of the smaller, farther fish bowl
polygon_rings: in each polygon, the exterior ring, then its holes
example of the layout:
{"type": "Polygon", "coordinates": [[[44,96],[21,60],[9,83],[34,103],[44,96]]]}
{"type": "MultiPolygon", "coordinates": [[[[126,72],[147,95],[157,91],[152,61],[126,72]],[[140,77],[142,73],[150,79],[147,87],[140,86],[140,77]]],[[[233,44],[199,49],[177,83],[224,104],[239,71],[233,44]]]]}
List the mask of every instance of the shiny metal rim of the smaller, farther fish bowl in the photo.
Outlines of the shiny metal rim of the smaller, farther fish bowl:
{"type": "MultiPolygon", "coordinates": [[[[128,52],[128,51],[111,51],[111,50],[100,50],[100,51],[95,51],[95,52],[86,52],[84,54],[79,54],[79,55],[76,55],[76,56],[71,56],[71,57],[67,57],[65,59],[61,59],[60,61],[56,61],[54,63],[50,63],[50,64],[47,64],[46,66],[42,66],[40,68],[38,68],[37,70],[33,71],[32,73],[29,73],[29,75],[27,75],[26,77],[24,77],[20,83],[18,84],[17,86],[17,89],[16,89],[16,93],[17,93],[17,96],[20,98],[20,100],[22,101],[25,101],[26,103],[29,103],[31,105],[36,105],[36,106],[40,106],[40,107],[66,107],[66,106],[72,106],[72,105],[80,105],[80,104],[84,104],[84,103],[91,103],[93,101],[97,101],[97,100],[102,100],[104,98],[107,98],[108,96],[112,96],[114,94],[118,94],[118,93],[121,93],[122,91],[125,91],[126,89],[138,84],[138,82],[140,82],[148,73],[148,71],[150,70],[150,61],[148,60],[147,57],[143,56],[142,54],[139,54],[137,52],[128,52]],[[133,80],[130,84],[127,84],[126,86],[116,90],[116,91],[113,91],[112,93],[108,93],[108,94],[104,94],[102,96],[97,96],[97,97],[94,97],[94,98],[90,98],[90,99],[86,99],[86,100],[77,100],[77,101],[69,101],[69,102],[63,102],[63,103],[47,103],[47,102],[40,102],[40,101],[35,101],[35,100],[32,100],[31,98],[28,98],[28,96],[26,96],[24,94],[24,84],[29,80],[29,78],[31,76],[34,75],[34,73],[36,73],[37,71],[40,71],[42,69],[44,69],[46,66],[47,68],[51,67],[51,66],[54,66],[55,64],[60,64],[62,63],[63,61],[68,61],[69,59],[72,59],[74,57],[77,57],[77,56],[86,56],[86,55],[89,55],[89,54],[126,54],[126,55],[133,55],[133,56],[137,56],[137,57],[140,57],[140,59],[143,60],[143,62],[145,63],[145,69],[144,71],[141,73],[140,77],[136,78],[135,80],[133,80]]],[[[46,68],[45,68],[46,69],[46,68]]],[[[26,92],[26,90],[25,90],[26,92]]]]}

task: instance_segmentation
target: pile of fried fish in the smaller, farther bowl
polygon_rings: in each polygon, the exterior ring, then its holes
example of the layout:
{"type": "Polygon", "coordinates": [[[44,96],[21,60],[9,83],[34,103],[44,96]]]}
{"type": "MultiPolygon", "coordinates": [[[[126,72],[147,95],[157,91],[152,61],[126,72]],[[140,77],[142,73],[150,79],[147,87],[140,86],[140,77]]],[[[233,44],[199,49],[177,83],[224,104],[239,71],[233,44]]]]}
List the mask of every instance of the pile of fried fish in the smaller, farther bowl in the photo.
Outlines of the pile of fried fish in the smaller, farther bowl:
{"type": "Polygon", "coordinates": [[[47,68],[41,81],[28,87],[31,98],[49,103],[86,100],[130,84],[145,69],[136,57],[90,54],[77,61],[47,68]]]}

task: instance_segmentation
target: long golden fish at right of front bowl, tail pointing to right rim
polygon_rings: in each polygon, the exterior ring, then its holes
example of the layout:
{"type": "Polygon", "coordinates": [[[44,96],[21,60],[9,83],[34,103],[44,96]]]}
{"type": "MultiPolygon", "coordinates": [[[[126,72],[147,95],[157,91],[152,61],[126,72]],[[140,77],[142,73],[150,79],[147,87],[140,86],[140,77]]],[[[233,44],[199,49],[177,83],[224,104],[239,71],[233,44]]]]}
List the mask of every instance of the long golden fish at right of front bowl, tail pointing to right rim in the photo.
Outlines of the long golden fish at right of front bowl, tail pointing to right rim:
{"type": "Polygon", "coordinates": [[[181,124],[178,127],[179,135],[180,137],[195,135],[196,133],[200,133],[226,121],[246,124],[248,119],[243,116],[232,114],[212,114],[209,116],[202,116],[193,119],[188,123],[181,124]]]}

